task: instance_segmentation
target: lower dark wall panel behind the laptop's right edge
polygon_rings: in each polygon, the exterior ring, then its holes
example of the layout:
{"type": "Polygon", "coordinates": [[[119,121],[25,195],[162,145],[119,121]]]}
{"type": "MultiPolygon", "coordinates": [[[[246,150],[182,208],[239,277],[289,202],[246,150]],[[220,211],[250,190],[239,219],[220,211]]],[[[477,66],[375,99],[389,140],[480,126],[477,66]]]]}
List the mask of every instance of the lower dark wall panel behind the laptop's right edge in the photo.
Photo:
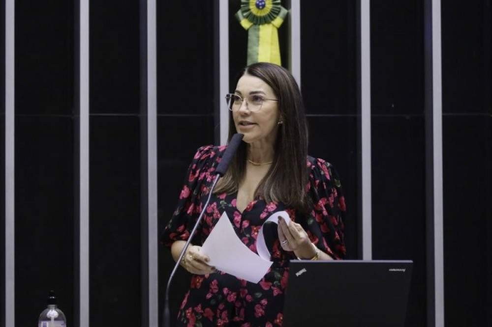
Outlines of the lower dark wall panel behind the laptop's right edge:
{"type": "Polygon", "coordinates": [[[372,118],[372,258],[413,260],[406,325],[426,326],[424,119],[372,118]]]}

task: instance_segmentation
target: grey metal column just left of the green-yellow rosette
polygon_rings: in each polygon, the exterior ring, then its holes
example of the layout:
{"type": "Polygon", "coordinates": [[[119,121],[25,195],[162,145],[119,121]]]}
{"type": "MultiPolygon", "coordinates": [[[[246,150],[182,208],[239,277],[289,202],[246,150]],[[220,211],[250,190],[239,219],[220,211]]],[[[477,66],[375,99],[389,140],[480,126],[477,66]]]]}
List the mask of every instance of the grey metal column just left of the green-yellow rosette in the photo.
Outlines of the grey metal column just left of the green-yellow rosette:
{"type": "Polygon", "coordinates": [[[229,109],[224,96],[229,90],[229,1],[219,0],[219,121],[220,144],[227,143],[229,109]]]}

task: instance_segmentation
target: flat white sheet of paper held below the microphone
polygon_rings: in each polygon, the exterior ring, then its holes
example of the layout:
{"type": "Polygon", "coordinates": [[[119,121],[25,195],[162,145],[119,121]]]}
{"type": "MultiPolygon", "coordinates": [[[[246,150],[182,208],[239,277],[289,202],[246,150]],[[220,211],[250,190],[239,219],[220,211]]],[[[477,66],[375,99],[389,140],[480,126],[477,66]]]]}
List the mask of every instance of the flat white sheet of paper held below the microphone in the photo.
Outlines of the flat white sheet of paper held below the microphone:
{"type": "Polygon", "coordinates": [[[225,212],[200,251],[210,257],[209,265],[252,283],[258,283],[272,265],[271,261],[260,258],[239,239],[225,212]]]}

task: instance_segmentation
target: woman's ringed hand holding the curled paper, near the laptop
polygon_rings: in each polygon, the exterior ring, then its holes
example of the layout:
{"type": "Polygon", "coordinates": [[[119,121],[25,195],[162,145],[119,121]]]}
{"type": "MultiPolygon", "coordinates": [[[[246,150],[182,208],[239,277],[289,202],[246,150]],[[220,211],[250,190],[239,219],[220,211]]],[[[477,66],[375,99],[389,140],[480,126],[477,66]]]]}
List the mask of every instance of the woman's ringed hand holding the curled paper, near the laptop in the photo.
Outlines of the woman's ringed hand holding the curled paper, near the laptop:
{"type": "Polygon", "coordinates": [[[285,220],[279,217],[277,229],[280,246],[285,251],[294,251],[300,259],[311,259],[316,255],[316,249],[300,224],[290,221],[287,225],[285,220]]]}

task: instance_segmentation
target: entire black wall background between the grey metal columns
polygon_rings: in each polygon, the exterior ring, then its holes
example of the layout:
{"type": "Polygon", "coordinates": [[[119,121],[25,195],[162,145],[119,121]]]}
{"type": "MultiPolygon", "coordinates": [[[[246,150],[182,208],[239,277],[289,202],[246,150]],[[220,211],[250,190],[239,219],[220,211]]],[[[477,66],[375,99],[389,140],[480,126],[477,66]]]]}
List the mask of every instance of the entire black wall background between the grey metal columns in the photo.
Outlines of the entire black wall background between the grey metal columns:
{"type": "MultiPolygon", "coordinates": [[[[348,257],[360,258],[356,4],[325,0],[301,5],[301,88],[309,153],[338,169],[348,208],[348,257]]],[[[2,11],[3,6],[2,2],[2,11]]],[[[137,326],[145,321],[141,297],[146,292],[140,287],[145,262],[140,194],[145,183],[140,170],[146,163],[140,153],[145,132],[141,120],[146,117],[140,108],[139,6],[137,0],[90,3],[94,327],[137,326]]],[[[229,6],[232,88],[236,73],[246,64],[247,31],[233,16],[239,1],[229,1],[229,6]]],[[[491,1],[441,1],[441,6],[445,321],[446,326],[491,326],[491,1]]],[[[76,326],[74,7],[63,0],[16,1],[16,326],[36,323],[50,289],[56,291],[68,325],[76,326]]],[[[175,209],[196,149],[218,142],[213,81],[216,8],[214,1],[157,1],[159,230],[175,209]]],[[[371,1],[370,13],[372,252],[374,259],[414,260],[406,326],[422,327],[427,326],[428,287],[424,0],[371,1]]],[[[279,28],[284,65],[287,27],[286,21],[279,28]]],[[[3,59],[4,42],[0,43],[3,59]]],[[[2,95],[3,83],[2,79],[2,95]]],[[[4,113],[2,105],[2,153],[4,113]]],[[[5,212],[4,197],[0,210],[5,212]]],[[[172,264],[168,249],[160,246],[160,301],[172,264]]],[[[3,255],[0,268],[3,292],[3,255]]],[[[171,291],[173,315],[189,279],[182,269],[178,272],[171,291]]]]}

